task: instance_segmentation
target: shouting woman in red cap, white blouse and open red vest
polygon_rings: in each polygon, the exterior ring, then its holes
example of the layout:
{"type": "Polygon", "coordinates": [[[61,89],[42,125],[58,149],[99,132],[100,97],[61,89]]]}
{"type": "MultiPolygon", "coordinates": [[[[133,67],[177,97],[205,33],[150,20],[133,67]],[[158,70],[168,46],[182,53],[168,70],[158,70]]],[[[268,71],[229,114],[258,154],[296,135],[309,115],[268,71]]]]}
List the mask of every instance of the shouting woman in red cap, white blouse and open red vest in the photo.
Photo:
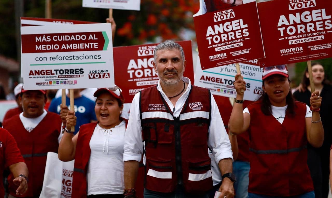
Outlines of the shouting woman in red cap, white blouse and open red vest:
{"type": "Polygon", "coordinates": [[[124,191],[124,132],[121,117],[124,97],[119,87],[100,88],[95,93],[98,122],[82,125],[72,137],[76,124],[73,111],[66,117],[66,132],[59,144],[62,161],[75,159],[72,197],[121,197],[124,191]]]}

